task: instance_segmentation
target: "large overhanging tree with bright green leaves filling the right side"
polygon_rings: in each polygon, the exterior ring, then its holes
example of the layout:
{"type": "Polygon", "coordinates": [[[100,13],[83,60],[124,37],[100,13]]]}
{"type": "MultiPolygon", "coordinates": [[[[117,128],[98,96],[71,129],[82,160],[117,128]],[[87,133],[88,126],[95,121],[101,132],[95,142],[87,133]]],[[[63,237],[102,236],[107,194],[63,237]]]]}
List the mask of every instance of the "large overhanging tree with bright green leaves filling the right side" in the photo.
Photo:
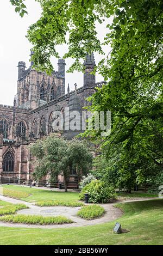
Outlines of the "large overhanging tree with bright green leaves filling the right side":
{"type": "MultiPolygon", "coordinates": [[[[25,1],[11,2],[21,14],[25,1]]],[[[112,113],[111,134],[103,138],[105,157],[110,159],[113,152],[119,156],[117,168],[125,182],[131,176],[141,182],[148,170],[162,170],[162,1],[37,2],[42,15],[28,30],[35,66],[52,70],[50,57],[59,57],[56,46],[66,42],[69,50],[64,57],[74,58],[70,71],[82,70],[80,59],[86,52],[102,53],[103,44],[111,45],[111,52],[96,68],[107,83],[97,89],[91,107],[92,111],[112,113]],[[99,40],[96,23],[103,25],[111,16],[105,38],[99,40]]],[[[91,136],[101,139],[100,132],[91,132],[91,136]]]]}

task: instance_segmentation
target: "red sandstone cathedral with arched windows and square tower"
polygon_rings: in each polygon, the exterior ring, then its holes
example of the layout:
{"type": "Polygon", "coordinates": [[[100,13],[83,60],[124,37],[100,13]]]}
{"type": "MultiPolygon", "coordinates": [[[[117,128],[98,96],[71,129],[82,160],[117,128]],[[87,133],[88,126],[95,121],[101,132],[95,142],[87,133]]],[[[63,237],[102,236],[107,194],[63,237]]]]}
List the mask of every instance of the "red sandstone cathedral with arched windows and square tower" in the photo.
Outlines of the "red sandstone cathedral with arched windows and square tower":
{"type": "MultiPolygon", "coordinates": [[[[33,54],[33,53],[32,53],[33,54]]],[[[95,68],[95,58],[87,54],[84,66],[84,82],[80,87],[70,92],[68,85],[65,94],[65,60],[58,60],[58,71],[51,75],[33,69],[33,63],[26,69],[26,63],[18,62],[17,95],[14,105],[0,105],[0,184],[18,183],[26,181],[30,185],[33,181],[33,157],[29,144],[37,139],[48,136],[53,129],[53,112],[64,112],[68,107],[71,111],[81,111],[88,104],[87,97],[95,93],[96,87],[103,82],[96,83],[96,77],[91,72],[95,68]]],[[[65,137],[71,139],[78,131],[66,131],[65,137]]],[[[37,186],[43,186],[48,181],[37,181],[37,186]]],[[[58,182],[63,183],[62,173],[58,182]]],[[[48,187],[58,186],[49,182],[48,187]]],[[[78,176],[72,173],[67,180],[68,187],[78,187],[78,176]]]]}

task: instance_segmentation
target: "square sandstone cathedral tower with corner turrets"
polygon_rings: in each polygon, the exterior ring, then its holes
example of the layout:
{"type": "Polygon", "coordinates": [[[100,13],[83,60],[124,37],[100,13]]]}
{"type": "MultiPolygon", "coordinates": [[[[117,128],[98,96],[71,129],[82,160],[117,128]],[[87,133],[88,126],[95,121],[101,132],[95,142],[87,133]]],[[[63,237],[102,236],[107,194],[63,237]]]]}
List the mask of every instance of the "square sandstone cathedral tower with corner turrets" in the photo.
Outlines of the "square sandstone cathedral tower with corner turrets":
{"type": "Polygon", "coordinates": [[[35,109],[65,94],[64,59],[59,59],[58,71],[51,75],[33,69],[33,64],[26,69],[26,63],[18,63],[17,107],[35,109]]]}

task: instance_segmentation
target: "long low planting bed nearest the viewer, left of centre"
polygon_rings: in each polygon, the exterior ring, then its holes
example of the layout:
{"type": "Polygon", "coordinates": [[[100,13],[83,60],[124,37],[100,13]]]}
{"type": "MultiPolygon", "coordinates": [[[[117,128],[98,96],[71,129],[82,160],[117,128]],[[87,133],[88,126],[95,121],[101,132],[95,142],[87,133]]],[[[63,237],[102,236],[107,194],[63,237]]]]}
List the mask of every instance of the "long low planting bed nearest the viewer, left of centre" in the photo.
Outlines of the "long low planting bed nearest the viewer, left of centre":
{"type": "Polygon", "coordinates": [[[24,224],[64,224],[72,223],[73,221],[64,216],[56,217],[43,217],[41,215],[5,215],[0,217],[0,221],[12,222],[12,223],[24,223],[24,224]]]}

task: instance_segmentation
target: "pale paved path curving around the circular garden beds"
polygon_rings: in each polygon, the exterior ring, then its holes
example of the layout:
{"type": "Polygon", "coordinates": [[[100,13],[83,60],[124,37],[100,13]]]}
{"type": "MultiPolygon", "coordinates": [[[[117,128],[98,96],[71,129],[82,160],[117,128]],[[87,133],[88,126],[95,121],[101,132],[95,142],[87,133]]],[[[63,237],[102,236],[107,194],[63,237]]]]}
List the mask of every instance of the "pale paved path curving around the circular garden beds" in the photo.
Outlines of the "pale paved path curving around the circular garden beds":
{"type": "MultiPolygon", "coordinates": [[[[151,200],[154,198],[139,198],[140,200],[151,200]]],[[[17,214],[31,214],[31,215],[42,215],[42,216],[58,216],[64,215],[68,218],[71,218],[74,223],[68,224],[59,224],[59,225],[30,225],[30,224],[17,224],[17,223],[4,223],[0,222],[0,226],[3,227],[16,227],[16,228],[70,228],[70,227],[85,227],[88,225],[102,224],[105,222],[114,221],[117,218],[123,215],[123,212],[119,208],[115,208],[115,203],[110,204],[101,204],[105,209],[105,214],[101,218],[97,218],[95,220],[87,221],[83,218],[77,217],[77,211],[80,207],[70,208],[65,206],[50,206],[50,207],[39,207],[34,205],[34,203],[25,202],[22,200],[4,197],[0,195],[0,200],[4,200],[6,202],[12,204],[26,204],[29,209],[23,209],[17,211],[17,214]]],[[[135,200],[137,201],[137,200],[135,200]]],[[[124,201],[121,203],[133,202],[133,200],[124,201]]]]}

